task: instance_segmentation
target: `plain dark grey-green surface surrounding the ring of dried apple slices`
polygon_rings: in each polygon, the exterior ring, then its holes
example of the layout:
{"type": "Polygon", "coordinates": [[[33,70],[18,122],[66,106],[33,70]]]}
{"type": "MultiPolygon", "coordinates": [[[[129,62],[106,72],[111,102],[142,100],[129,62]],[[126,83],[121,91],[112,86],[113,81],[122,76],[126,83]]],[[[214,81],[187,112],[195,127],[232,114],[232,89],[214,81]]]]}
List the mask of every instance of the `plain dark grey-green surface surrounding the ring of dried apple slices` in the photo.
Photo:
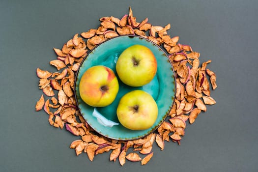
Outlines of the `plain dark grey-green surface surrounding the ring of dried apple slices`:
{"type": "Polygon", "coordinates": [[[258,94],[256,0],[1,0],[0,2],[0,172],[257,172],[258,94]],[[138,21],[171,23],[168,33],[201,53],[217,74],[217,101],[192,125],[181,145],[166,143],[146,166],[121,167],[109,153],[90,162],[69,148],[77,139],[36,113],[37,67],[54,70],[53,47],[75,33],[97,28],[103,16],[122,17],[132,6],[138,21]]]}

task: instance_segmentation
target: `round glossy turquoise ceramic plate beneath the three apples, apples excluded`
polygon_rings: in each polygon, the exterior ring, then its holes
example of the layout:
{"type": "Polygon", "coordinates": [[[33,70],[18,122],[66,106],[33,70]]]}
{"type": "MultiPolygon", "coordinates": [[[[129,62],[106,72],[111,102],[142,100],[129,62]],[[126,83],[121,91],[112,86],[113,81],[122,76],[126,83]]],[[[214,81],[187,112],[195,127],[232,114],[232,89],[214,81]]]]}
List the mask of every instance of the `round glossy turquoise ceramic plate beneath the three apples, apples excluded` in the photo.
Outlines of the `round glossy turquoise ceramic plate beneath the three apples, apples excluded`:
{"type": "Polygon", "coordinates": [[[175,78],[169,58],[158,45],[140,36],[118,36],[101,43],[84,58],[76,74],[75,97],[81,114],[97,133],[111,139],[134,140],[153,132],[170,112],[174,95],[175,78]],[[95,65],[110,67],[115,72],[115,64],[119,55],[126,48],[135,44],[148,47],[155,55],[158,62],[158,70],[155,78],[149,84],[141,87],[126,86],[119,81],[119,91],[115,101],[107,107],[95,108],[84,103],[79,94],[79,83],[84,72],[89,67],[95,65]],[[158,118],[154,125],[146,130],[134,131],[126,129],[119,123],[116,116],[116,108],[120,98],[125,93],[135,89],[141,89],[151,94],[158,105],[158,118]]]}

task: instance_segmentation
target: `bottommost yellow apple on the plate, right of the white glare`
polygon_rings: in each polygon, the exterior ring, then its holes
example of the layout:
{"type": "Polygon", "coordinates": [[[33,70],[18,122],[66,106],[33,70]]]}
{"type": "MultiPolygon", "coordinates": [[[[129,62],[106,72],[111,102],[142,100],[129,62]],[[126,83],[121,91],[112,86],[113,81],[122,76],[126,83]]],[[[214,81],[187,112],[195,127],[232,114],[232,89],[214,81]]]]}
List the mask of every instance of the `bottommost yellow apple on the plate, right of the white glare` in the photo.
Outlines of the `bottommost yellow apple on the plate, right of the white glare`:
{"type": "Polygon", "coordinates": [[[133,90],[122,96],[116,114],[125,128],[145,130],[155,123],[158,106],[149,93],[143,90],[133,90]]]}

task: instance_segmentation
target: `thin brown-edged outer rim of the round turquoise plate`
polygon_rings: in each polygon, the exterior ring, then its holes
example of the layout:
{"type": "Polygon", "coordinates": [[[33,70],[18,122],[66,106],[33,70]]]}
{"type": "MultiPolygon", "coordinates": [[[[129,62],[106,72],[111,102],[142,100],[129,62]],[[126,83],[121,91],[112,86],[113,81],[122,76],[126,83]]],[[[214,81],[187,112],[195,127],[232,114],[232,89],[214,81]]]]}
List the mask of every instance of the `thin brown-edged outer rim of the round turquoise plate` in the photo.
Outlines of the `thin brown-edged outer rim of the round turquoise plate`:
{"type": "MultiPolygon", "coordinates": [[[[131,138],[131,139],[118,139],[118,138],[113,138],[113,137],[108,137],[108,136],[106,136],[106,135],[104,135],[103,133],[101,133],[101,132],[99,132],[99,131],[97,131],[97,130],[95,130],[90,124],[88,124],[96,133],[98,133],[99,135],[101,135],[101,136],[104,136],[104,137],[106,137],[106,138],[109,138],[109,139],[113,139],[113,140],[117,140],[117,141],[131,141],[131,140],[137,140],[137,139],[141,139],[141,138],[143,138],[143,137],[146,137],[146,136],[148,136],[149,134],[151,134],[151,133],[153,133],[155,130],[157,130],[157,128],[166,120],[166,118],[168,117],[168,115],[170,114],[170,112],[171,112],[171,110],[172,110],[172,106],[173,106],[173,104],[174,104],[174,102],[175,102],[175,95],[176,95],[176,77],[175,77],[175,72],[174,72],[174,68],[173,68],[173,65],[172,65],[172,61],[171,61],[171,59],[169,58],[169,55],[162,49],[162,47],[160,47],[158,44],[156,44],[155,42],[153,42],[153,41],[151,41],[151,40],[149,40],[149,39],[147,39],[147,38],[145,38],[145,37],[143,37],[143,36],[139,36],[139,35],[133,35],[133,34],[126,34],[126,35],[118,35],[118,36],[115,36],[115,37],[112,37],[112,38],[109,38],[109,39],[107,39],[107,40],[104,40],[103,42],[101,42],[100,44],[97,44],[93,49],[91,49],[89,52],[87,52],[87,55],[83,58],[83,60],[81,61],[81,63],[80,63],[80,65],[79,65],[79,67],[78,67],[78,69],[77,69],[77,71],[76,71],[76,74],[75,74],[75,78],[74,78],[74,97],[75,97],[75,101],[76,101],[76,105],[77,105],[77,107],[78,107],[78,110],[80,111],[80,114],[83,116],[83,118],[85,119],[85,117],[84,117],[84,115],[82,114],[82,112],[81,112],[81,110],[80,110],[80,108],[79,108],[79,103],[78,103],[78,99],[77,99],[77,93],[76,93],[76,81],[77,81],[77,78],[78,78],[78,73],[79,73],[79,70],[80,70],[80,68],[81,68],[81,66],[83,65],[83,63],[84,63],[84,61],[86,60],[86,58],[88,57],[88,55],[92,52],[92,51],[94,51],[97,47],[99,47],[100,45],[102,45],[102,44],[104,44],[105,42],[107,42],[107,41],[109,41],[109,40],[112,40],[112,39],[115,39],[115,38],[118,38],[118,37],[130,37],[130,38],[133,38],[133,37],[138,37],[138,38],[140,38],[140,39],[145,39],[146,41],[148,41],[148,42],[151,42],[152,44],[154,44],[156,47],[158,47],[159,48],[159,50],[161,50],[165,55],[166,55],[166,58],[168,59],[168,61],[169,61],[169,63],[170,63],[170,65],[171,65],[171,68],[172,68],[172,73],[173,73],[173,78],[174,78],[174,95],[173,95],[173,97],[172,97],[172,104],[170,105],[170,107],[169,107],[169,110],[166,112],[166,115],[164,115],[163,116],[163,118],[162,118],[162,120],[161,120],[161,122],[158,124],[158,125],[156,125],[153,129],[151,129],[149,132],[147,132],[146,134],[144,134],[144,135],[142,135],[142,136],[140,136],[140,137],[136,137],[136,138],[131,138]]],[[[85,121],[87,122],[87,120],[85,119],[85,121]]]]}

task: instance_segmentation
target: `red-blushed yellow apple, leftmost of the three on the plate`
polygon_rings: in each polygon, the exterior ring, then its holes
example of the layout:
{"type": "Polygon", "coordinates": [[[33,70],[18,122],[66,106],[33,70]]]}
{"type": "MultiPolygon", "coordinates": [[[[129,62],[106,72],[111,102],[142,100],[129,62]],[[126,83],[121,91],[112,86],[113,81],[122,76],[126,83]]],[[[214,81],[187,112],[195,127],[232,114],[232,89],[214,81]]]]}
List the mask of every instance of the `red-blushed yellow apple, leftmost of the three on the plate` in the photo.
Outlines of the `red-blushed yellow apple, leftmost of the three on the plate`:
{"type": "Polygon", "coordinates": [[[103,65],[88,68],[79,84],[82,100],[93,107],[110,105],[115,100],[118,89],[118,80],[114,71],[103,65]]]}

